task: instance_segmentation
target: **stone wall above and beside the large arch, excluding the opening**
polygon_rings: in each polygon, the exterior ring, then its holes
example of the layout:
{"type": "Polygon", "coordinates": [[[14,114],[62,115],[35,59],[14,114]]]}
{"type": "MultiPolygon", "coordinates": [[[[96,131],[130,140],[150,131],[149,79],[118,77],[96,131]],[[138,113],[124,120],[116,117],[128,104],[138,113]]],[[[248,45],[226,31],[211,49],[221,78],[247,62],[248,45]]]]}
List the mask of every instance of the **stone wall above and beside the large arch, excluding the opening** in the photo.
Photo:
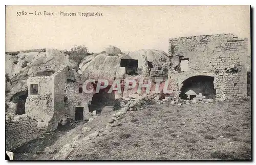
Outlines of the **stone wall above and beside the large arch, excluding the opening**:
{"type": "MultiPolygon", "coordinates": [[[[169,53],[188,58],[189,71],[213,74],[217,99],[236,100],[247,93],[247,44],[233,34],[181,37],[169,40],[169,53]]],[[[169,77],[179,79],[184,73],[178,72],[169,72],[169,77]]]]}

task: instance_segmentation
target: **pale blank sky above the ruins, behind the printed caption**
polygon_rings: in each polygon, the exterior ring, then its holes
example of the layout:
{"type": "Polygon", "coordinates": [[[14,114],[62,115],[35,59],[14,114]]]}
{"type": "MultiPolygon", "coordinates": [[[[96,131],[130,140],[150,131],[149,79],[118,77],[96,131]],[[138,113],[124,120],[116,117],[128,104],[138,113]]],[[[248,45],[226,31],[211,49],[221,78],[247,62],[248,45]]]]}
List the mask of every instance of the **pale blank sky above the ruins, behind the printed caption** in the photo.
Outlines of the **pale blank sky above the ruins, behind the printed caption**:
{"type": "MultiPolygon", "coordinates": [[[[19,13],[18,13],[19,14],[19,13]]],[[[114,45],[122,52],[160,49],[168,39],[233,33],[250,37],[249,6],[7,6],[6,51],[36,48],[69,50],[85,45],[101,52],[114,45]],[[17,16],[17,12],[27,15],[17,16]],[[44,12],[54,16],[44,15],[44,12]],[[102,16],[79,16],[79,13],[102,16]],[[35,15],[35,12],[42,15],[35,15]],[[76,13],[63,16],[60,12],[76,13]],[[33,13],[33,14],[29,14],[33,13]]]]}

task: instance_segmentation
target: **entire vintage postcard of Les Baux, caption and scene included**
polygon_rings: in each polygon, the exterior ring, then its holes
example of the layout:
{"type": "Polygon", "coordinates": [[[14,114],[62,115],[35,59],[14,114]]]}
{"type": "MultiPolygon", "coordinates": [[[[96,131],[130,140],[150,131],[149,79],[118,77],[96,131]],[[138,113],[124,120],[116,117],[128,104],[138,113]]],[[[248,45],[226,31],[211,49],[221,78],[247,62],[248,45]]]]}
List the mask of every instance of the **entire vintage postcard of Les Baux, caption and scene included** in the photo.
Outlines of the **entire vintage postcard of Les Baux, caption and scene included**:
{"type": "Polygon", "coordinates": [[[251,160],[250,6],[6,6],[6,159],[251,160]]]}

